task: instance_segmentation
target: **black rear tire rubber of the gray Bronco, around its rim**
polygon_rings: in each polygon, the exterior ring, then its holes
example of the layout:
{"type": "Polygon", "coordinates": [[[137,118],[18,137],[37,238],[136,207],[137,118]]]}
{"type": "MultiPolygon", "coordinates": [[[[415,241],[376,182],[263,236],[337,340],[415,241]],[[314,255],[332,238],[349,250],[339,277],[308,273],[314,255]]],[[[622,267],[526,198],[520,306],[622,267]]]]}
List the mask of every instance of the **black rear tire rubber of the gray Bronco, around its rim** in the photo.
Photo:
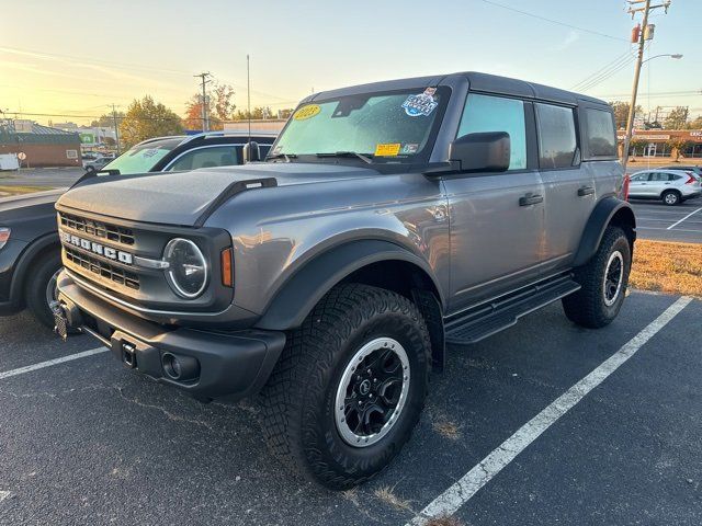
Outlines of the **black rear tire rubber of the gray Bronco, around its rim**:
{"type": "Polygon", "coordinates": [[[575,270],[575,279],[580,284],[580,290],[563,298],[563,310],[570,321],[589,329],[599,329],[616,318],[626,295],[632,265],[631,254],[631,245],[624,230],[608,227],[595,255],[587,264],[575,270]],[[608,306],[603,291],[604,273],[615,251],[619,251],[623,259],[623,276],[614,302],[608,306]]]}

